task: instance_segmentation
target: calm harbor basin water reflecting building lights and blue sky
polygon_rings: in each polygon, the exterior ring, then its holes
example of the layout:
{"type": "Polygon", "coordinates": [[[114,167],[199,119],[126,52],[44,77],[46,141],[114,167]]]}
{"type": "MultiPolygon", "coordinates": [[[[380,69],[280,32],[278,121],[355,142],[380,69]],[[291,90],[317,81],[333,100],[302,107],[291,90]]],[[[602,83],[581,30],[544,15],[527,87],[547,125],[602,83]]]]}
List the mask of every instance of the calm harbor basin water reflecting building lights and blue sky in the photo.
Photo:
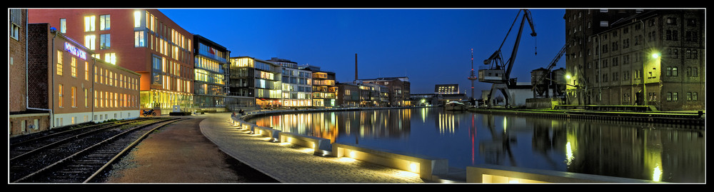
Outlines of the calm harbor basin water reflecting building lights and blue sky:
{"type": "Polygon", "coordinates": [[[705,131],[669,124],[503,116],[443,108],[254,118],[258,126],[338,143],[495,164],[675,183],[705,183],[705,131]]]}

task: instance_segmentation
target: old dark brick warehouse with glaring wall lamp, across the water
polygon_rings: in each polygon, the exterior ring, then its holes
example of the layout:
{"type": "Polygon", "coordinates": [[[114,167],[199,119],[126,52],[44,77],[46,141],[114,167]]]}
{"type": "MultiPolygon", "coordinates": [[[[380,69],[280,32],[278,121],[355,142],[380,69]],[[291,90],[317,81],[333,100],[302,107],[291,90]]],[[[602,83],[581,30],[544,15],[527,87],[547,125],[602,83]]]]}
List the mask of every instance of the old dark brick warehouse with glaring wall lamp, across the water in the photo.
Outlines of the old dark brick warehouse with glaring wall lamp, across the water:
{"type": "Polygon", "coordinates": [[[567,102],[705,109],[703,9],[567,9],[567,102]]]}

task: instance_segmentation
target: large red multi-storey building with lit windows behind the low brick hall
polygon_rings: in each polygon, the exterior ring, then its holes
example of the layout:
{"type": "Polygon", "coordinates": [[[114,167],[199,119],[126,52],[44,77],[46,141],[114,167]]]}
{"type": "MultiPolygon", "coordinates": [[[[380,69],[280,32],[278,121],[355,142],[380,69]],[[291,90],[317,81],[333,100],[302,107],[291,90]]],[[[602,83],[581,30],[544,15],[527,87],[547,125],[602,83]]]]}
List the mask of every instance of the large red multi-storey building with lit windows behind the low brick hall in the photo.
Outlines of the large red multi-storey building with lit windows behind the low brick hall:
{"type": "Polygon", "coordinates": [[[156,9],[29,9],[101,59],[141,74],[140,108],[168,114],[193,101],[193,34],[156,9]]]}

